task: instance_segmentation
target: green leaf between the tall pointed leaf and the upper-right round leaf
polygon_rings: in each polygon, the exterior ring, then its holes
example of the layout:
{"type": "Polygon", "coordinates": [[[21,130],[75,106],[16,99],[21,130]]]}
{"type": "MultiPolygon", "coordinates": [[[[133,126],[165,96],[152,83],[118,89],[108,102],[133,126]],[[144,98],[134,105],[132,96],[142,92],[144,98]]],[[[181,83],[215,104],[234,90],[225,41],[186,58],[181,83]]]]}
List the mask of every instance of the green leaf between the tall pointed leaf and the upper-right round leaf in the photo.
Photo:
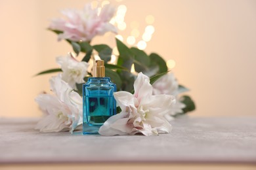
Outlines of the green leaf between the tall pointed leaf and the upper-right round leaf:
{"type": "Polygon", "coordinates": [[[131,51],[135,54],[135,71],[137,73],[144,73],[148,70],[150,66],[150,58],[146,54],[146,52],[139,50],[138,48],[132,47],[131,51]]]}

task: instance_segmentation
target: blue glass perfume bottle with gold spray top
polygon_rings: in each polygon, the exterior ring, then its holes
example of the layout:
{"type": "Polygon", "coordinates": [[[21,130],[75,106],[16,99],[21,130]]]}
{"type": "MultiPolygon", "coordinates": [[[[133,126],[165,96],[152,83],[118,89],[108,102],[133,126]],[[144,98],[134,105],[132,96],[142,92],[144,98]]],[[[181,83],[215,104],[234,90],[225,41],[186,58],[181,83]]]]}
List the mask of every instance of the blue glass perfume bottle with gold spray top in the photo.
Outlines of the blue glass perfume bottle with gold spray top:
{"type": "Polygon", "coordinates": [[[105,77],[103,60],[93,64],[93,77],[83,84],[83,134],[96,134],[104,122],[116,114],[113,93],[116,84],[105,77]]]}

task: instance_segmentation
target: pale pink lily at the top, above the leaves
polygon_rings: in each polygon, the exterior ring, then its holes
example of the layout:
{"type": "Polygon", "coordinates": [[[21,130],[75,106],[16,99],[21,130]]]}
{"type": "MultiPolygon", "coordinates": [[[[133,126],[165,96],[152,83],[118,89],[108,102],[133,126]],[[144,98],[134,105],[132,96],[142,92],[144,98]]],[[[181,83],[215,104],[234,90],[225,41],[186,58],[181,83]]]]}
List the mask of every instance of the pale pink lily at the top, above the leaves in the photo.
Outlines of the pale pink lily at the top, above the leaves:
{"type": "Polygon", "coordinates": [[[114,25],[110,24],[116,9],[111,5],[104,5],[98,14],[98,8],[91,4],[85,5],[83,10],[66,9],[62,11],[64,18],[56,18],[51,22],[50,29],[62,31],[58,40],[91,41],[96,35],[104,35],[108,31],[117,33],[114,25]]]}

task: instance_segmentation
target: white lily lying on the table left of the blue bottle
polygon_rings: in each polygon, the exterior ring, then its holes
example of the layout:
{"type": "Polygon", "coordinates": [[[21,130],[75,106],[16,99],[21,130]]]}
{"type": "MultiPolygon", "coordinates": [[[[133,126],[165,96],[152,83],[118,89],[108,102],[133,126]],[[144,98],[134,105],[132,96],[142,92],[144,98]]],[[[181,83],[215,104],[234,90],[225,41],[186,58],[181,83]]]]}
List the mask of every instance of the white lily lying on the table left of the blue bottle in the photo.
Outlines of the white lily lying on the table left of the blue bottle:
{"type": "Polygon", "coordinates": [[[43,93],[35,98],[45,113],[35,129],[42,132],[70,130],[72,133],[83,122],[83,100],[60,75],[51,78],[50,83],[56,96],[43,93]]]}

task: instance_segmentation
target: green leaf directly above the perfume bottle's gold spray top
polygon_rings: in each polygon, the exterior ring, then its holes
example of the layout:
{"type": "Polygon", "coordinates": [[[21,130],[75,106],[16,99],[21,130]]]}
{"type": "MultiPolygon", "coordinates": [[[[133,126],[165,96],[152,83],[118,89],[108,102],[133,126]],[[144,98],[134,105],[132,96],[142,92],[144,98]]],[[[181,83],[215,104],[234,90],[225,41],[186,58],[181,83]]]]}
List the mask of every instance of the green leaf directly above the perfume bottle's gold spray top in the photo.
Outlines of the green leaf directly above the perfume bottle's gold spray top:
{"type": "Polygon", "coordinates": [[[106,44],[95,45],[93,46],[93,48],[98,52],[98,56],[100,56],[100,59],[104,60],[105,63],[110,61],[112,55],[112,48],[110,48],[106,44]]]}

